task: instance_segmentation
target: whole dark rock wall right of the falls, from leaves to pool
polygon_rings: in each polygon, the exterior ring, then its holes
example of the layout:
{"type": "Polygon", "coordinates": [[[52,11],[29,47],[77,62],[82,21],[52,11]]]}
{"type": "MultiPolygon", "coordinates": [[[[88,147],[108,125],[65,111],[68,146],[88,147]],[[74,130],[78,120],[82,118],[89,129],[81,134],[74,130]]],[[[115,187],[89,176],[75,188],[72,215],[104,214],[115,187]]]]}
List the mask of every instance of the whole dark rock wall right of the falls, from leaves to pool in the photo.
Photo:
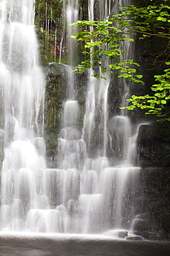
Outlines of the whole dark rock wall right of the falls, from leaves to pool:
{"type": "MultiPolygon", "coordinates": [[[[136,199],[145,220],[137,221],[135,230],[170,231],[170,124],[153,122],[141,125],[138,134],[138,158],[142,167],[142,194],[136,199]],[[147,223],[147,224],[146,224],[147,223]]],[[[139,210],[139,209],[138,209],[139,210]]]]}

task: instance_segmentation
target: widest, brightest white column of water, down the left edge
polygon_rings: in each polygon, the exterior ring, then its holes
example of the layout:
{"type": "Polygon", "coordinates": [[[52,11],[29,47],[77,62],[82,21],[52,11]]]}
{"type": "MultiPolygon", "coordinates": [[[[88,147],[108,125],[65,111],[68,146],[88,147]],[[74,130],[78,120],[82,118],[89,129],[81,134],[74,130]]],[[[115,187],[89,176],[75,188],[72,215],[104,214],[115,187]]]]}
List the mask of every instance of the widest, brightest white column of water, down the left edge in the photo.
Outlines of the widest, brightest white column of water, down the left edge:
{"type": "Polygon", "coordinates": [[[0,228],[22,230],[30,208],[37,207],[46,190],[43,181],[37,193],[46,167],[45,80],[34,33],[34,0],[4,0],[0,11],[0,81],[6,113],[0,228]]]}

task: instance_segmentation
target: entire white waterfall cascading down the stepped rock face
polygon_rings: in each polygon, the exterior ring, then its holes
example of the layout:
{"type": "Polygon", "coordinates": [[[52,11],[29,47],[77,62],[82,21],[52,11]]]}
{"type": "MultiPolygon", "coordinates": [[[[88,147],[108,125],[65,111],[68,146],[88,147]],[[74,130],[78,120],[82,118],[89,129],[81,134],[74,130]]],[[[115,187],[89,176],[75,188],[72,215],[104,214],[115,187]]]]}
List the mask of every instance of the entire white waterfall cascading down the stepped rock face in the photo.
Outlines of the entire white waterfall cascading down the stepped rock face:
{"type": "MultiPolygon", "coordinates": [[[[112,6],[111,1],[103,2],[105,11],[99,15],[102,19],[109,16],[112,6]]],[[[91,20],[94,3],[89,0],[91,20]]],[[[89,76],[81,132],[77,125],[80,107],[76,78],[74,73],[70,75],[58,143],[58,169],[46,167],[41,129],[45,87],[37,58],[33,5],[33,0],[0,3],[0,79],[6,102],[0,228],[63,233],[127,228],[134,213],[131,191],[136,182],[132,184],[132,180],[137,178],[139,168],[131,165],[127,154],[131,152],[129,120],[122,115],[108,122],[109,77],[106,82],[98,82],[89,76]],[[112,158],[107,158],[108,138],[112,158]]],[[[68,23],[76,21],[78,0],[68,1],[65,10],[68,23]]]]}

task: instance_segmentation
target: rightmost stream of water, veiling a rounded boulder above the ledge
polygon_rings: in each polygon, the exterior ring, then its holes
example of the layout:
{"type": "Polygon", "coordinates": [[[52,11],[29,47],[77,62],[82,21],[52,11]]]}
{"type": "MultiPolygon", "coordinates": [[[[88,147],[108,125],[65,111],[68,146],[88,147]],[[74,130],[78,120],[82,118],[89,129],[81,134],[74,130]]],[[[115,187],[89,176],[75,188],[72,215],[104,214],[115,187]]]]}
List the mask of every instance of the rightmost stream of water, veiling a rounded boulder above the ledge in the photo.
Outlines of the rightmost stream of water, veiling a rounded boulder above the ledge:
{"type": "MultiPolygon", "coordinates": [[[[129,6],[130,2],[131,1],[117,1],[112,8],[111,15],[116,15],[118,13],[118,7],[123,8],[129,6]]],[[[127,37],[129,36],[127,35],[127,37]]],[[[134,60],[134,51],[131,42],[127,40],[121,44],[121,47],[126,51],[124,59],[134,60]]],[[[130,97],[129,84],[125,78],[122,78],[119,83],[118,86],[122,86],[123,84],[122,102],[120,103],[120,107],[125,107],[128,104],[127,99],[130,97]]],[[[120,161],[119,159],[121,159],[122,163],[125,163],[126,165],[134,165],[136,159],[135,142],[138,134],[137,130],[138,127],[132,127],[131,125],[131,121],[127,116],[127,109],[121,110],[119,116],[110,118],[108,125],[109,138],[111,141],[111,149],[114,152],[114,157],[118,159],[118,162],[120,161]]]]}

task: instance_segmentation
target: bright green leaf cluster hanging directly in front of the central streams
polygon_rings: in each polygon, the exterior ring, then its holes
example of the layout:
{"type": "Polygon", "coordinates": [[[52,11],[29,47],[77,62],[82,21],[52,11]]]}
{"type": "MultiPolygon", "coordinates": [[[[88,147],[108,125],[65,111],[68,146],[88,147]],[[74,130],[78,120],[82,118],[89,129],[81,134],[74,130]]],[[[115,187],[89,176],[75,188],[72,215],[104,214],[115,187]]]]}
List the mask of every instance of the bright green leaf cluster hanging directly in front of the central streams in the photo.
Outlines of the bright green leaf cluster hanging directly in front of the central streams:
{"type": "MultiPolygon", "coordinates": [[[[124,24],[129,24],[129,20],[123,21],[124,24]]],[[[82,32],[73,35],[73,39],[85,42],[85,50],[83,54],[87,57],[87,60],[78,65],[78,68],[74,71],[81,73],[86,68],[93,68],[96,70],[96,66],[100,66],[101,73],[113,73],[114,70],[121,72],[118,77],[126,77],[127,80],[134,80],[134,82],[142,82],[140,78],[142,75],[134,75],[136,73],[136,68],[134,65],[139,66],[132,60],[124,60],[124,54],[126,51],[122,49],[122,42],[131,41],[134,39],[130,38],[131,30],[127,30],[125,26],[122,26],[122,15],[116,15],[109,21],[77,21],[71,26],[83,26],[82,32]],[[118,26],[113,26],[114,23],[118,23],[118,26]],[[109,57],[109,60],[114,60],[109,66],[103,66],[102,58],[103,56],[109,57]]],[[[129,24],[130,26],[130,24],[129,24]]],[[[94,73],[96,78],[104,78],[102,74],[98,75],[94,73]]]]}

